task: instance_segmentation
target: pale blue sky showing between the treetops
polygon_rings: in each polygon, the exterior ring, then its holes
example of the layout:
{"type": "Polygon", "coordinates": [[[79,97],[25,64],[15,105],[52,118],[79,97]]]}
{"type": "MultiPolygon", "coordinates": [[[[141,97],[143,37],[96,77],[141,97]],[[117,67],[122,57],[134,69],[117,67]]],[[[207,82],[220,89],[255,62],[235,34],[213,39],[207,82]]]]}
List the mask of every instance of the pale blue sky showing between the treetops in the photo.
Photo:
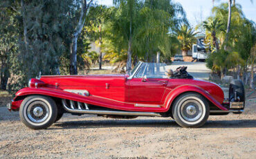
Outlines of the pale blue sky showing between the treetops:
{"type": "MultiPolygon", "coordinates": [[[[113,5],[113,0],[97,0],[98,3],[107,6],[113,5]]],[[[212,10],[212,0],[173,0],[181,3],[186,12],[188,21],[192,26],[196,26],[201,21],[204,21],[210,16],[212,10]]],[[[227,0],[215,0],[214,6],[219,6],[220,3],[227,2],[227,0]]],[[[250,0],[236,0],[242,7],[244,15],[247,19],[256,22],[256,1],[253,3],[250,0]]]]}

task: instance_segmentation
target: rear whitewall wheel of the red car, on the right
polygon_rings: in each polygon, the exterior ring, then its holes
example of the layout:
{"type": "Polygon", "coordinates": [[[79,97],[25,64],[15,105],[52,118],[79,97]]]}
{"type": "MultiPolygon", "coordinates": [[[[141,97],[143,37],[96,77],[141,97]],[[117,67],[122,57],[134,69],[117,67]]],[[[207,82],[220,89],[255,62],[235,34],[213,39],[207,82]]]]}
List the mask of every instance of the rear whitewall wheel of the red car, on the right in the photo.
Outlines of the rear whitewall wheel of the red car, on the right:
{"type": "Polygon", "coordinates": [[[172,106],[172,115],[181,127],[201,127],[208,120],[208,101],[198,93],[185,93],[179,96],[172,106]]]}

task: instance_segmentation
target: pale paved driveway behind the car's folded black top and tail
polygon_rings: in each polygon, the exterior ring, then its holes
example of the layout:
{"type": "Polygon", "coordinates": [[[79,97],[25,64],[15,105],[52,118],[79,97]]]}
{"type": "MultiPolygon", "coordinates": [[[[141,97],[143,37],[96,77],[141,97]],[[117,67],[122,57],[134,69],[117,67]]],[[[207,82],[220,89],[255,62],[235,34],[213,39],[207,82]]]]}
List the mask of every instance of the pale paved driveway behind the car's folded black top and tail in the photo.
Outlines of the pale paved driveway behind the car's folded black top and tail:
{"type": "Polygon", "coordinates": [[[194,78],[209,79],[210,69],[205,66],[205,62],[172,62],[166,68],[175,71],[179,66],[188,66],[187,71],[194,78]]]}

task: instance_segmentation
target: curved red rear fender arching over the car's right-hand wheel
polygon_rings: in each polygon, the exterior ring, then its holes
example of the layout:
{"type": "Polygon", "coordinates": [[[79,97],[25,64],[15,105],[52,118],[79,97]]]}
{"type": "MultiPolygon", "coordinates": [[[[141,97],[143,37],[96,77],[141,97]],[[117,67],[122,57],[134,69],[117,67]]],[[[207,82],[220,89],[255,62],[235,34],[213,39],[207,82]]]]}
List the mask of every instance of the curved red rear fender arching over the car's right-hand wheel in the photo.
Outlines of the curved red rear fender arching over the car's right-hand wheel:
{"type": "Polygon", "coordinates": [[[165,108],[167,110],[169,110],[170,106],[172,105],[172,102],[174,102],[175,98],[178,97],[179,95],[181,95],[182,93],[187,93],[187,92],[199,93],[199,94],[203,95],[203,97],[205,97],[207,100],[209,100],[212,104],[217,106],[219,109],[221,109],[223,111],[228,111],[228,109],[226,109],[224,106],[222,106],[221,103],[219,103],[217,100],[215,100],[214,97],[212,97],[212,95],[210,95],[207,91],[203,90],[199,86],[194,86],[194,85],[182,85],[182,86],[178,86],[178,87],[174,88],[172,91],[170,91],[170,93],[165,98],[165,104],[164,104],[165,108]]]}

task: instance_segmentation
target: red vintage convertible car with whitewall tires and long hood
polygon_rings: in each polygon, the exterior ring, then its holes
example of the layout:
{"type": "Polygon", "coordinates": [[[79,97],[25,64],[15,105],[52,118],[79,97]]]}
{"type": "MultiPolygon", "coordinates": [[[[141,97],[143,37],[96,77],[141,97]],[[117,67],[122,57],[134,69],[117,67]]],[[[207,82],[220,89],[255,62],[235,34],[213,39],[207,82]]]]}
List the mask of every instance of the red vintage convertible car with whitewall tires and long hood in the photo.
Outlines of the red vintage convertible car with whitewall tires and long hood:
{"type": "Polygon", "coordinates": [[[229,98],[212,82],[194,79],[186,67],[165,75],[165,64],[138,62],[122,75],[45,75],[30,79],[8,109],[31,129],[46,129],[63,113],[108,118],[171,117],[181,127],[201,127],[209,115],[244,110],[244,85],[230,84],[229,98]]]}

